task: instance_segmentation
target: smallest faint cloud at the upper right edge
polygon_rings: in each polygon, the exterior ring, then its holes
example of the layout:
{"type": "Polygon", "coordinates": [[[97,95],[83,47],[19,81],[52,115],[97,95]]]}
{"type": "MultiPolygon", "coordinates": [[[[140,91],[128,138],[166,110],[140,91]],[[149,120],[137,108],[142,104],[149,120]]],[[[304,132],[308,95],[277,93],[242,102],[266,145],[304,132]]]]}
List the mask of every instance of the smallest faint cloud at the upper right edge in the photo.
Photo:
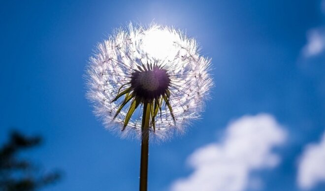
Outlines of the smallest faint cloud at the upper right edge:
{"type": "Polygon", "coordinates": [[[307,34],[307,44],[303,48],[305,57],[311,57],[325,50],[325,32],[322,30],[311,30],[307,34]]]}

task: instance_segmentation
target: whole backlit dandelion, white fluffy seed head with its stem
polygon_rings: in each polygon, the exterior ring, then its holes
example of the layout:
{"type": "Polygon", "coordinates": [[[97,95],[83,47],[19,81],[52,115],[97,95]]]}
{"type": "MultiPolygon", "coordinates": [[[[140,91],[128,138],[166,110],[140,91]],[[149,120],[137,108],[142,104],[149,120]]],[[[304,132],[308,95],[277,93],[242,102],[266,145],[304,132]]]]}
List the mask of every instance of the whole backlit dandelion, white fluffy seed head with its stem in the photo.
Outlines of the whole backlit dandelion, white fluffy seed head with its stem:
{"type": "Polygon", "coordinates": [[[200,117],[213,86],[210,60],[183,32],[129,25],[99,43],[87,97],[106,128],[141,138],[140,190],[147,188],[149,135],[166,140],[200,117]]]}

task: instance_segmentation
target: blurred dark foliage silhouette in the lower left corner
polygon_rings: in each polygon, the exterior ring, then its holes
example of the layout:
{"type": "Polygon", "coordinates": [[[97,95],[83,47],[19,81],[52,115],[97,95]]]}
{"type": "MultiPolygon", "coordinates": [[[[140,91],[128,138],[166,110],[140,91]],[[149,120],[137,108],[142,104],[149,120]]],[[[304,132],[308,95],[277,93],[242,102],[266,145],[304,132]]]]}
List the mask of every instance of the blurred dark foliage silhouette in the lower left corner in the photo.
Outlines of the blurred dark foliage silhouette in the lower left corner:
{"type": "Polygon", "coordinates": [[[41,143],[40,136],[10,133],[9,140],[0,147],[0,191],[36,191],[60,179],[59,171],[42,173],[43,169],[20,156],[22,151],[41,143]]]}

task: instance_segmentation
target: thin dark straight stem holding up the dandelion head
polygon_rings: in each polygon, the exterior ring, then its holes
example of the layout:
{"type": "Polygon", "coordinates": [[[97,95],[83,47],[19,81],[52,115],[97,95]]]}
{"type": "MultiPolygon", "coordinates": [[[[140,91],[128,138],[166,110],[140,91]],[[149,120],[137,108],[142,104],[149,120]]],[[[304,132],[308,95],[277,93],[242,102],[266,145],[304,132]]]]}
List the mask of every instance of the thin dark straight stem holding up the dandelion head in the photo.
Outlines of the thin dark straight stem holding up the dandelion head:
{"type": "Polygon", "coordinates": [[[148,152],[149,152],[149,123],[151,103],[143,103],[141,125],[141,162],[140,162],[140,191],[147,191],[148,180],[148,152]]]}

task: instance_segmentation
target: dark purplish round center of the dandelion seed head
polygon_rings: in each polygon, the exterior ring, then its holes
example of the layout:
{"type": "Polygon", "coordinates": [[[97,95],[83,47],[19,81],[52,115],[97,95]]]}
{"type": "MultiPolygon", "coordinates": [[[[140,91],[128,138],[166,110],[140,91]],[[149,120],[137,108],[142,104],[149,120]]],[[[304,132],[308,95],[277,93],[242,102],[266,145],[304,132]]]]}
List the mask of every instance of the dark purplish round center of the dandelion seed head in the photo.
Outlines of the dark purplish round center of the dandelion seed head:
{"type": "Polygon", "coordinates": [[[152,101],[166,93],[170,85],[165,69],[154,67],[149,70],[135,70],[131,74],[131,88],[135,96],[152,101]]]}

